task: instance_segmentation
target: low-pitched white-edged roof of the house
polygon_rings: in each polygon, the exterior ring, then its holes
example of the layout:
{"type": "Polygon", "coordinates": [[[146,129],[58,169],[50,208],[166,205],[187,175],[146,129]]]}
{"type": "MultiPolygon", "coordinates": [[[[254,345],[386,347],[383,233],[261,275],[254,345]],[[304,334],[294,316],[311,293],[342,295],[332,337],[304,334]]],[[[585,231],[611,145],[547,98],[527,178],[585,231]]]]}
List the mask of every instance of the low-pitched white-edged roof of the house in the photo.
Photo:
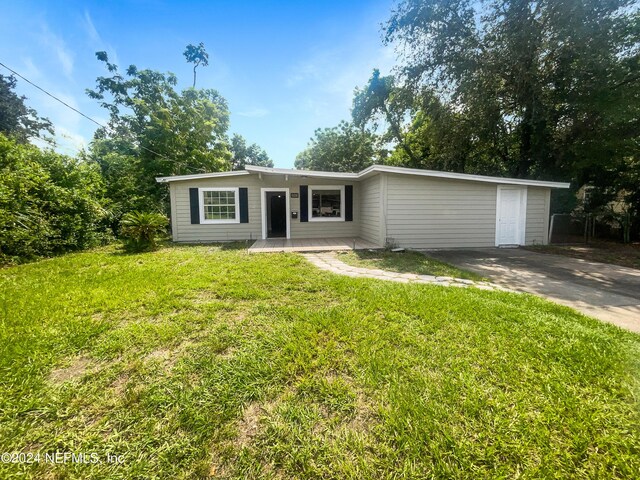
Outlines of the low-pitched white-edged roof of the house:
{"type": "Polygon", "coordinates": [[[487,175],[471,175],[468,173],[440,172],[437,170],[420,170],[417,168],[391,167],[387,165],[372,165],[358,173],[321,172],[315,170],[295,170],[289,168],[269,168],[247,165],[245,170],[233,172],[198,173],[194,175],[175,175],[172,177],[156,177],[160,183],[177,182],[182,180],[198,180],[203,178],[232,177],[240,175],[288,175],[292,177],[309,178],[344,178],[361,180],[379,173],[394,173],[400,175],[415,175],[423,177],[448,178],[472,182],[499,183],[501,185],[527,185],[532,187],[569,188],[569,183],[548,182],[544,180],[527,180],[522,178],[490,177],[487,175]]]}

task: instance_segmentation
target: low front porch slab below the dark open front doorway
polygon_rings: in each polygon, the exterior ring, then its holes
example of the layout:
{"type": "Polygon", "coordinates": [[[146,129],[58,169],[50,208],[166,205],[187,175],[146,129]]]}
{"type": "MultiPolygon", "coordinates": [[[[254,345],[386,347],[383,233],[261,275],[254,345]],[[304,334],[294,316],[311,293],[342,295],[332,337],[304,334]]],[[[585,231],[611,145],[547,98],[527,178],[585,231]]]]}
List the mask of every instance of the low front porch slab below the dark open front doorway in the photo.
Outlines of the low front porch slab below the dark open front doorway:
{"type": "Polygon", "coordinates": [[[249,253],[326,252],[335,250],[365,250],[380,248],[362,238],[268,238],[256,240],[249,253]]]}

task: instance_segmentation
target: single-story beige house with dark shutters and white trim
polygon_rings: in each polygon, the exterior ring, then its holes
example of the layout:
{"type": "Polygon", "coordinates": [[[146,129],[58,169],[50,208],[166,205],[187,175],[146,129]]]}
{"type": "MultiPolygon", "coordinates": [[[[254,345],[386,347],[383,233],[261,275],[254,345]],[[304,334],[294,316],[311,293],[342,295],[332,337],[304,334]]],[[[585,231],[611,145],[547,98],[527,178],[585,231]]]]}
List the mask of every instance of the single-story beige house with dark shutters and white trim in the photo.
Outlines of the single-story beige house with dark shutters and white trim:
{"type": "Polygon", "coordinates": [[[159,177],[176,242],[362,238],[377,246],[546,244],[552,188],[568,183],[373,165],[359,173],[266,168],[159,177]]]}

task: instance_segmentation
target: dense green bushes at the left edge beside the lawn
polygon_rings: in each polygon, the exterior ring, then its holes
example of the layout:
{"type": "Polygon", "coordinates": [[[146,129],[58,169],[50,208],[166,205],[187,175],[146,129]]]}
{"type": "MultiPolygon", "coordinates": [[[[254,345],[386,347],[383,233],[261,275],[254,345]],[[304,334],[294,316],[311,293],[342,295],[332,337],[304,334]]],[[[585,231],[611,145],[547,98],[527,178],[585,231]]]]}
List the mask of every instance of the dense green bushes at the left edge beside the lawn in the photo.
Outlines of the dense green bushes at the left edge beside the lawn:
{"type": "Polygon", "coordinates": [[[103,193],[96,165],[0,134],[0,263],[104,241],[103,193]]]}

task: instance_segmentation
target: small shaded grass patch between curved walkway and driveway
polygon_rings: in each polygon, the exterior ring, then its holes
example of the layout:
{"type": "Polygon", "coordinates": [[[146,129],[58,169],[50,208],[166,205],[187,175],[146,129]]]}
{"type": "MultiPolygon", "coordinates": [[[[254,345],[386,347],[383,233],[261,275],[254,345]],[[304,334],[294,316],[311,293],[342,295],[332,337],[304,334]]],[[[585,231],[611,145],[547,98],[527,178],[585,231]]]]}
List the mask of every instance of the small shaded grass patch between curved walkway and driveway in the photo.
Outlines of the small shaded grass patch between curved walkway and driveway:
{"type": "Polygon", "coordinates": [[[338,258],[355,267],[379,268],[391,272],[435,275],[438,277],[465,278],[468,280],[486,280],[481,275],[440,262],[420,252],[406,250],[391,252],[387,250],[357,250],[339,252],[338,258]]]}

